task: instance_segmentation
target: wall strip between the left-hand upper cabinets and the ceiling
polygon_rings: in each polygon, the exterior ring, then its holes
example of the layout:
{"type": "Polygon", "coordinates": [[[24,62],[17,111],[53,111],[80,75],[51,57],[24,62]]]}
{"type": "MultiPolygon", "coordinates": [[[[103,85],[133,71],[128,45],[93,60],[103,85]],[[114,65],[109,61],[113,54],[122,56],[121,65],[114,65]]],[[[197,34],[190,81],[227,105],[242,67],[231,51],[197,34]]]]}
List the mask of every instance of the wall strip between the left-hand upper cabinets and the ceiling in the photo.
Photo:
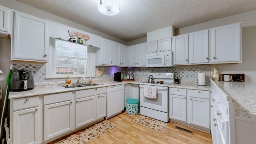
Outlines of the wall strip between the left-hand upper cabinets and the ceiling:
{"type": "Polygon", "coordinates": [[[12,8],[14,10],[18,10],[20,12],[24,12],[39,18],[43,18],[43,19],[48,19],[48,20],[52,20],[54,22],[58,22],[60,24],[64,24],[73,28],[77,28],[79,30],[84,30],[85,32],[89,32],[91,34],[96,34],[98,36],[102,36],[103,38],[106,38],[108,40],[113,40],[115,42],[119,42],[121,44],[125,44],[127,45],[127,42],[124,40],[120,40],[119,38],[116,38],[114,36],[110,36],[108,34],[104,34],[102,32],[99,32],[97,30],[94,30],[92,28],[88,28],[86,26],[83,26],[81,24],[77,24],[75,22],[72,22],[70,20],[66,20],[64,18],[61,18],[59,16],[56,16],[54,14],[50,14],[48,12],[45,12],[43,10],[39,10],[37,8],[34,8],[32,6],[28,6],[26,4],[23,4],[21,2],[18,2],[16,0],[0,0],[0,5],[8,7],[8,8],[12,8]]]}

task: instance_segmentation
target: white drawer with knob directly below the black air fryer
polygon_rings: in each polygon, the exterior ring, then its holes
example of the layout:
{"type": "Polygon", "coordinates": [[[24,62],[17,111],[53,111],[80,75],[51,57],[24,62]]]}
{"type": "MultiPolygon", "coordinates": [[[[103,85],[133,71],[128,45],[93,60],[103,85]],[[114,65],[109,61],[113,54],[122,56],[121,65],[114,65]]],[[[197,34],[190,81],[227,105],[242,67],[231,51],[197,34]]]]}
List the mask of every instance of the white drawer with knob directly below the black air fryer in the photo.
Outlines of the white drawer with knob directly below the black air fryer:
{"type": "Polygon", "coordinates": [[[13,110],[32,108],[39,106],[39,96],[18,98],[13,100],[13,110]]]}

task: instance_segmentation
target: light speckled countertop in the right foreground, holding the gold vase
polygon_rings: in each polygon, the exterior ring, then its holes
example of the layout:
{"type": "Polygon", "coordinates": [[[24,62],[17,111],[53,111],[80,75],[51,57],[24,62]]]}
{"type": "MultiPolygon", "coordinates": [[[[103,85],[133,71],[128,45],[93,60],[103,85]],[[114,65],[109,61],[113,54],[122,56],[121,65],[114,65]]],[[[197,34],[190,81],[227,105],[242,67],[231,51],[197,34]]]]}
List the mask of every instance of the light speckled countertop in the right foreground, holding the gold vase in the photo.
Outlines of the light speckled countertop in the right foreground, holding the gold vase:
{"type": "Polygon", "coordinates": [[[255,82],[216,81],[215,83],[226,94],[227,100],[235,102],[235,114],[237,116],[256,118],[255,82]]]}

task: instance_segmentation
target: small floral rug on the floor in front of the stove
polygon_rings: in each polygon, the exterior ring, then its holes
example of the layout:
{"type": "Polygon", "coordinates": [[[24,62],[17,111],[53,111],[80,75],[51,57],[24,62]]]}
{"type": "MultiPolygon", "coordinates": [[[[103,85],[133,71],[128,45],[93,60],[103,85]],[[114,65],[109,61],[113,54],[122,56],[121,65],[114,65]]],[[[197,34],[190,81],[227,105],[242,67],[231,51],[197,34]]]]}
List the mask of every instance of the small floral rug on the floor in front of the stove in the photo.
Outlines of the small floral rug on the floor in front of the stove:
{"type": "Polygon", "coordinates": [[[140,115],[138,118],[133,120],[134,122],[141,124],[142,126],[146,126],[148,128],[152,128],[158,132],[162,132],[164,128],[167,126],[167,123],[162,122],[160,120],[155,120],[154,118],[149,118],[146,116],[140,115]]]}

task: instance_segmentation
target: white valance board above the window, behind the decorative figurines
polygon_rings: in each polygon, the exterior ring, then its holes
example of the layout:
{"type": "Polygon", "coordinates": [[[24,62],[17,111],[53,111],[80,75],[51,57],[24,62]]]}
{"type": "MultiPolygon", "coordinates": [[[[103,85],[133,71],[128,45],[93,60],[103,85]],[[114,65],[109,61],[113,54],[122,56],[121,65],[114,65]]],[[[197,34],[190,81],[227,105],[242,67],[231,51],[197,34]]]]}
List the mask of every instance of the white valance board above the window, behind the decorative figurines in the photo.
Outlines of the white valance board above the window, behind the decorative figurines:
{"type": "MultiPolygon", "coordinates": [[[[100,37],[100,36],[97,36],[95,34],[90,34],[88,32],[84,32],[82,30],[78,30],[76,28],[72,28],[70,26],[66,26],[64,24],[59,24],[57,22],[50,21],[49,23],[50,23],[49,24],[50,25],[49,36],[52,37],[52,38],[61,38],[63,40],[69,40],[70,36],[69,36],[68,30],[73,30],[75,32],[80,32],[82,34],[86,34],[86,35],[88,35],[90,37],[90,39],[87,41],[87,43],[82,38],[84,44],[86,43],[89,46],[91,45],[91,46],[94,46],[94,47],[97,47],[97,48],[101,47],[101,39],[102,39],[102,37],[100,37]]],[[[76,36],[75,36],[75,38],[76,38],[76,36]]],[[[76,40],[77,40],[77,38],[76,38],[76,40]]]]}

